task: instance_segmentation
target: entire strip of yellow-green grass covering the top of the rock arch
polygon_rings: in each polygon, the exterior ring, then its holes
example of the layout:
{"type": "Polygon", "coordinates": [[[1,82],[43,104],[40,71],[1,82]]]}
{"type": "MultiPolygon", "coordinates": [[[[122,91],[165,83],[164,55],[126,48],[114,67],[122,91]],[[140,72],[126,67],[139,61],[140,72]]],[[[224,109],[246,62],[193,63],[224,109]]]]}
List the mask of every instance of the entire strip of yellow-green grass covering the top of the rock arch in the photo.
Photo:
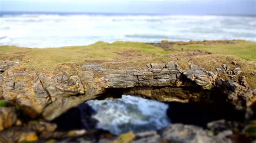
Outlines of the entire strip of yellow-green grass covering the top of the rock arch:
{"type": "Polygon", "coordinates": [[[256,88],[256,77],[251,74],[256,71],[256,42],[251,41],[172,42],[171,47],[167,49],[142,42],[123,41],[112,44],[99,41],[88,46],[60,48],[0,46],[0,60],[20,59],[22,63],[16,67],[17,70],[36,72],[54,71],[63,65],[68,65],[66,67],[72,69],[72,65],[76,67],[85,62],[99,62],[103,63],[104,67],[117,68],[145,67],[147,63],[166,63],[172,60],[179,62],[183,68],[187,68],[187,61],[190,61],[207,70],[215,71],[222,63],[234,67],[231,61],[226,60],[227,56],[238,63],[242,69],[241,75],[246,76],[250,85],[256,88]],[[212,54],[188,53],[195,50],[208,51],[212,54]]]}

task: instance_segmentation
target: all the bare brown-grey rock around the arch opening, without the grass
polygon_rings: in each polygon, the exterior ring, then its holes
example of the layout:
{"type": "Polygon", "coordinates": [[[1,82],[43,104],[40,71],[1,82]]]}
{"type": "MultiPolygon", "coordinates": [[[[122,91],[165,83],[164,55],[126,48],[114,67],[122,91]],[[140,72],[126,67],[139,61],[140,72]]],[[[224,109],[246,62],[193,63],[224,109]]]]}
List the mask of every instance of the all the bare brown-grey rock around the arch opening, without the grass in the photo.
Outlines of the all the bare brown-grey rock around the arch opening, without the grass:
{"type": "Polygon", "coordinates": [[[64,68],[37,72],[17,70],[21,63],[19,59],[0,61],[0,99],[6,106],[0,107],[0,142],[232,142],[254,139],[246,134],[246,128],[253,120],[256,90],[251,89],[246,77],[240,75],[239,66],[231,68],[223,63],[209,71],[190,61],[187,61],[187,69],[174,60],[150,62],[141,67],[118,67],[113,62],[91,61],[75,65],[63,63],[64,68]],[[115,66],[117,68],[113,68],[115,66]],[[226,74],[226,78],[220,74],[226,74]],[[53,122],[86,101],[123,94],[160,102],[231,106],[242,112],[244,119],[212,121],[204,128],[173,123],[159,131],[128,132],[119,137],[99,130],[62,131],[53,122]]]}

